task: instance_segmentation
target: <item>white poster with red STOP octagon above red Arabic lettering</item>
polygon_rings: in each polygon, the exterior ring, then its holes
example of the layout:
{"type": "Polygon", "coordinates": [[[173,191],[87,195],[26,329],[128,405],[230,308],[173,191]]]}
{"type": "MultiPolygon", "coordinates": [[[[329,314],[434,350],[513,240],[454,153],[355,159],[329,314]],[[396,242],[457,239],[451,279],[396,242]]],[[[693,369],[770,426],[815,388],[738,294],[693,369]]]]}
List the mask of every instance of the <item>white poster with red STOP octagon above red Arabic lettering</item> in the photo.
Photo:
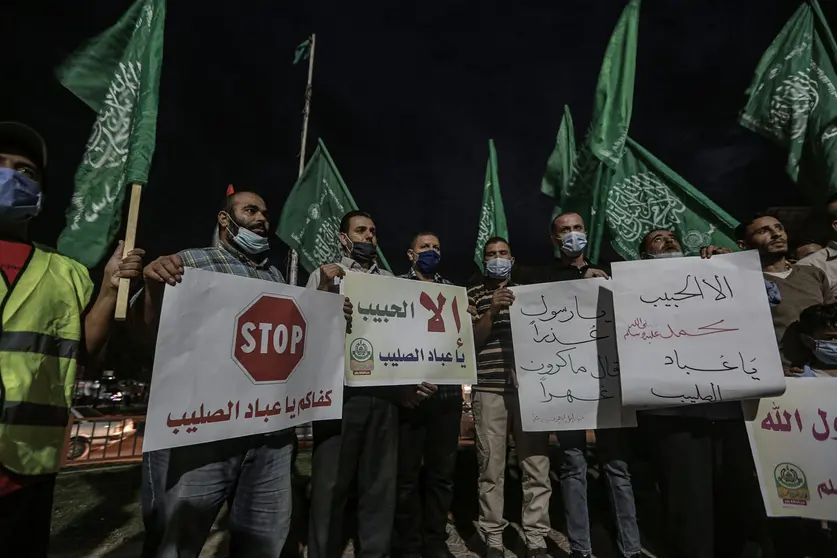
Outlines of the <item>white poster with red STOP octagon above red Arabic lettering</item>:
{"type": "Polygon", "coordinates": [[[163,298],[143,451],[340,418],[345,333],[341,296],[188,268],[163,298]]]}

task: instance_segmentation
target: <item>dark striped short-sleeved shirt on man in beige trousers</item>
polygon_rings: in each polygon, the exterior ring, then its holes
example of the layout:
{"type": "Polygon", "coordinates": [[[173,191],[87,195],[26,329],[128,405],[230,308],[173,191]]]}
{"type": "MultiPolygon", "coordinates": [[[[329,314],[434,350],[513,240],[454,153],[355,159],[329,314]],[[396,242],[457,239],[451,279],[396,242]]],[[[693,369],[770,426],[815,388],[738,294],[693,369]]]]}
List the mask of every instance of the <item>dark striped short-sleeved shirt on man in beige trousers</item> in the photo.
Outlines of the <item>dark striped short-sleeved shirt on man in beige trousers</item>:
{"type": "MultiPolygon", "coordinates": [[[[514,286],[509,283],[509,287],[514,286]]],[[[480,320],[491,308],[491,298],[497,289],[489,289],[484,283],[468,288],[468,302],[477,309],[480,320]]],[[[511,337],[511,315],[508,308],[494,317],[491,333],[477,353],[476,391],[513,391],[514,347],[511,337]]]]}

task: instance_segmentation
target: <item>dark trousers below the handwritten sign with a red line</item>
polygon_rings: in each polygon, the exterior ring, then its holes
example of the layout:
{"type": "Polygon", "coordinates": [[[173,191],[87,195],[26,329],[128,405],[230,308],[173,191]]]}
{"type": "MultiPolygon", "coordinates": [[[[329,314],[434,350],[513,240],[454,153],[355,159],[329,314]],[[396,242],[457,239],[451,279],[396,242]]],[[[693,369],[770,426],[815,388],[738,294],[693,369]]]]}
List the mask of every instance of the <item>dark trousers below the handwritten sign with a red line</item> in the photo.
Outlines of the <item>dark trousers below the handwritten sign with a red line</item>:
{"type": "Polygon", "coordinates": [[[759,539],[764,508],[741,419],[640,413],[658,469],[667,554],[734,558],[759,539]]]}

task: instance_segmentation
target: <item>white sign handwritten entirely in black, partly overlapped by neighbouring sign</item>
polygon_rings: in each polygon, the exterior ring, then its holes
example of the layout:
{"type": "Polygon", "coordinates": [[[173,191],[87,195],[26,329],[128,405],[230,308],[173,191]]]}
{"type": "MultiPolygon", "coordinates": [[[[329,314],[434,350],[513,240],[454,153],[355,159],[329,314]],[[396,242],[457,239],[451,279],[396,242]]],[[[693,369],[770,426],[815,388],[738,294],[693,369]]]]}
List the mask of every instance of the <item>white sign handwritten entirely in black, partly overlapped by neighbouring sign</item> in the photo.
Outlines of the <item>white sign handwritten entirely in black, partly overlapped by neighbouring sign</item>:
{"type": "Polygon", "coordinates": [[[512,288],[523,430],[636,426],[635,413],[622,408],[612,284],[580,279],[512,288]]]}

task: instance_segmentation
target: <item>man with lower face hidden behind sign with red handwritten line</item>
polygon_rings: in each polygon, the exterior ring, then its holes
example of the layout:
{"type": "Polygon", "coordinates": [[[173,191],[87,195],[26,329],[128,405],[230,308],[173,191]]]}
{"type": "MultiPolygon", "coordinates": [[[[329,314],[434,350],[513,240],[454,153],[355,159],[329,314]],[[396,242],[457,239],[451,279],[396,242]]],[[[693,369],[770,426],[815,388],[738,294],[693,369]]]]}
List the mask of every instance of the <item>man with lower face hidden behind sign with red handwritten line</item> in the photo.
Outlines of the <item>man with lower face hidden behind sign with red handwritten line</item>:
{"type": "MultiPolygon", "coordinates": [[[[650,231],[642,259],[683,258],[674,232],[650,231]]],[[[728,254],[707,246],[701,257],[728,254]]],[[[637,414],[659,475],[666,547],[672,556],[738,556],[756,526],[748,504],[756,487],[738,402],[637,414]]]]}

